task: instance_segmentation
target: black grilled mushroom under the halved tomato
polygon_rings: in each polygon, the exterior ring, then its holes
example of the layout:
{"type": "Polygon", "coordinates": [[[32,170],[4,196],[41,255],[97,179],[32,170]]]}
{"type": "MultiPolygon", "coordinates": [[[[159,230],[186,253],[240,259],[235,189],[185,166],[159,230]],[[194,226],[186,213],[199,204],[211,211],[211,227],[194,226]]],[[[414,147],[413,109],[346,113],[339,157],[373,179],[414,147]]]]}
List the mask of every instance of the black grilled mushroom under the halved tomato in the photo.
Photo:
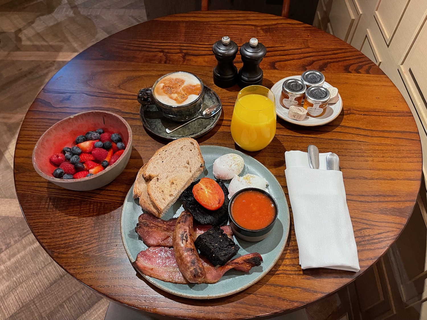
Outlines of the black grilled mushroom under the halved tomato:
{"type": "Polygon", "coordinates": [[[222,181],[216,181],[224,192],[224,204],[218,210],[208,210],[203,207],[193,196],[193,186],[199,183],[199,180],[194,181],[188,186],[179,196],[182,201],[182,206],[185,210],[193,215],[194,220],[199,224],[212,224],[213,226],[224,226],[228,222],[228,189],[222,181]]]}

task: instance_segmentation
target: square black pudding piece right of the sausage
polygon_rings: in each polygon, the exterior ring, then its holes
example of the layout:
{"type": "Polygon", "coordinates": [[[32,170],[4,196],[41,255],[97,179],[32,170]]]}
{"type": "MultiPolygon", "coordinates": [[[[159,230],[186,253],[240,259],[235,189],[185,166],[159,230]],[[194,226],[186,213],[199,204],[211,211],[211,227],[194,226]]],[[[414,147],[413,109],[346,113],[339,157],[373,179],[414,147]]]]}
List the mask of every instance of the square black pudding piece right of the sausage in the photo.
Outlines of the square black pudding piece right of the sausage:
{"type": "Polygon", "coordinates": [[[194,241],[194,245],[214,266],[225,265],[240,249],[220,227],[212,227],[202,233],[194,241]]]}

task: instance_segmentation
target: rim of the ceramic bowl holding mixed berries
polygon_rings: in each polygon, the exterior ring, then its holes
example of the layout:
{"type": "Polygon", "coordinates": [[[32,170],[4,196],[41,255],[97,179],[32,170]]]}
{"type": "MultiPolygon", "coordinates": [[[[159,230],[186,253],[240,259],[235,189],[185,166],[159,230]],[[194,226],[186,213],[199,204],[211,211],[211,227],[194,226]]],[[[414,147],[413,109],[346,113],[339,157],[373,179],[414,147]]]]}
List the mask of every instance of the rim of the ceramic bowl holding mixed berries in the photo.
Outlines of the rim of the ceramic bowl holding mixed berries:
{"type": "Polygon", "coordinates": [[[48,180],[50,182],[55,182],[55,183],[76,183],[76,182],[88,181],[88,180],[91,180],[91,179],[96,179],[97,177],[100,177],[101,175],[103,175],[106,172],[110,171],[117,163],[119,163],[121,160],[123,160],[125,158],[124,155],[127,154],[131,148],[132,148],[132,129],[131,129],[129,123],[125,119],[123,119],[117,113],[113,113],[113,112],[110,112],[110,111],[102,111],[102,110],[85,111],[85,112],[75,113],[75,114],[73,114],[71,116],[67,116],[66,118],[64,118],[62,120],[59,120],[55,124],[51,125],[46,131],[44,131],[44,133],[40,136],[40,138],[38,138],[38,140],[35,143],[35,146],[34,146],[34,148],[32,150],[32,165],[33,165],[35,171],[39,175],[41,175],[41,177],[44,177],[46,180],[48,180]],[[126,145],[125,151],[123,152],[122,156],[120,156],[120,158],[115,163],[113,163],[111,166],[108,166],[106,169],[102,170],[101,172],[97,173],[96,175],[91,175],[89,177],[82,177],[82,178],[79,178],[79,179],[58,179],[56,177],[49,176],[49,175],[45,174],[44,172],[42,172],[39,169],[37,162],[35,161],[35,150],[37,149],[38,144],[40,143],[40,141],[42,140],[42,138],[44,137],[44,135],[47,134],[47,132],[50,131],[54,126],[58,125],[59,123],[61,123],[62,121],[66,120],[66,119],[74,118],[75,116],[80,116],[80,115],[85,114],[85,113],[94,113],[94,112],[111,114],[112,116],[115,116],[116,118],[120,119],[120,121],[123,122],[124,125],[126,125],[126,128],[128,129],[129,140],[128,140],[128,143],[126,145]]]}

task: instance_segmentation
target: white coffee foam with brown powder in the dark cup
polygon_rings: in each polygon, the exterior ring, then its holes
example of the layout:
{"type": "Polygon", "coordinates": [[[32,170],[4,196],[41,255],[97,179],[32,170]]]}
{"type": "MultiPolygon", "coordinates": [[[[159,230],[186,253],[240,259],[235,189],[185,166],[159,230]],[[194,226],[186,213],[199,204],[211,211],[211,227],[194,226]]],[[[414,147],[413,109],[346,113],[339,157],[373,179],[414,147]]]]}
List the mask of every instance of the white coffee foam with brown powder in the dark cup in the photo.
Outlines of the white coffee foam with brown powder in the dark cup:
{"type": "Polygon", "coordinates": [[[191,73],[175,72],[160,79],[154,96],[164,105],[187,105],[202,92],[202,84],[191,73]]]}

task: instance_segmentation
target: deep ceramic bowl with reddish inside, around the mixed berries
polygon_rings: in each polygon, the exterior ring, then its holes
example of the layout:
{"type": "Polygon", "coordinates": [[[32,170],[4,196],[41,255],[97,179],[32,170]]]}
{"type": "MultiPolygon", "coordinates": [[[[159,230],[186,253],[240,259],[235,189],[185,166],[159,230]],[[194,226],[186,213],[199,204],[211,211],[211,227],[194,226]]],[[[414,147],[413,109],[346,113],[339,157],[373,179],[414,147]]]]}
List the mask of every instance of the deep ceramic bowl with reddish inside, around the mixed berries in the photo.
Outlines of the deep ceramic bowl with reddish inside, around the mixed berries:
{"type": "Polygon", "coordinates": [[[125,169],[132,151],[132,130],[121,116],[107,111],[88,111],[74,114],[59,122],[42,134],[32,151],[32,164],[35,171],[46,180],[70,190],[93,190],[113,181],[125,169]],[[76,145],[75,139],[87,131],[102,128],[111,134],[118,133],[126,145],[122,156],[103,171],[80,179],[58,179],[52,172],[56,169],[50,163],[52,154],[60,153],[64,147],[76,145]]]}

